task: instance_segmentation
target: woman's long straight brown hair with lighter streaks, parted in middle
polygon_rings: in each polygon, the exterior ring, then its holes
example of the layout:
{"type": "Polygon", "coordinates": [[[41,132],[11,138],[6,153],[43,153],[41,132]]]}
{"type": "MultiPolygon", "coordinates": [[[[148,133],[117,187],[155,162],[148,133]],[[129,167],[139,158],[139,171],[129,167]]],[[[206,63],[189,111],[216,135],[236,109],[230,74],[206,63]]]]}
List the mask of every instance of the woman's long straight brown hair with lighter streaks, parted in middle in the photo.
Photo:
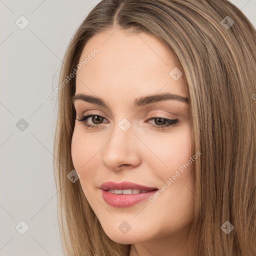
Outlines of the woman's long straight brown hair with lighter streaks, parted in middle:
{"type": "MultiPolygon", "coordinates": [[[[256,31],[227,0],[102,0],[65,53],[59,82],[74,72],[88,39],[105,29],[144,31],[174,54],[189,93],[195,217],[189,255],[256,255],[256,31]],[[229,221],[234,227],[226,233],[229,221]],[[222,224],[224,224],[222,226],[222,224]]],[[[99,48],[100,54],[100,48],[99,48]]],[[[75,77],[58,88],[54,174],[65,255],[127,256],[104,233],[74,169],[75,77]]],[[[187,253],[188,254],[188,253],[187,253]]]]}

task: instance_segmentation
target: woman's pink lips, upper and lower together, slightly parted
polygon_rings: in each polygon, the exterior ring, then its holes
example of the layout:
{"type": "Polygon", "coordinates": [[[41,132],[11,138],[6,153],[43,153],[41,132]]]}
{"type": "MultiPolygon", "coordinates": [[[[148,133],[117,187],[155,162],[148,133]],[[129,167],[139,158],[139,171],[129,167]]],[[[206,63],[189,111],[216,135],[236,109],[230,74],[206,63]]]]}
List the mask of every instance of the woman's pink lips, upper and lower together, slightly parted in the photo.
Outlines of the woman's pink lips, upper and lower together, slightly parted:
{"type": "Polygon", "coordinates": [[[129,207],[134,204],[137,204],[145,199],[147,199],[151,194],[155,193],[158,190],[156,187],[144,186],[136,183],[132,183],[129,181],[123,181],[120,183],[116,183],[113,181],[108,181],[102,183],[99,188],[102,192],[102,197],[106,203],[113,207],[129,207]],[[145,193],[137,193],[137,194],[114,194],[107,189],[139,189],[139,190],[148,190],[145,193]]]}

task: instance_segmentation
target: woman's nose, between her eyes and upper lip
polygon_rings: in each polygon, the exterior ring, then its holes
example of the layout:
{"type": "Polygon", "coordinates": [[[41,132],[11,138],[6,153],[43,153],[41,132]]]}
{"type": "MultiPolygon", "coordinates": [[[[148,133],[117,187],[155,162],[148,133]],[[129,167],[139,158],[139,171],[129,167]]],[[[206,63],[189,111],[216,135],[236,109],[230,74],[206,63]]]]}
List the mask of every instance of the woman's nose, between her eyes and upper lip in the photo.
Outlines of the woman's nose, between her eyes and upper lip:
{"type": "Polygon", "coordinates": [[[139,165],[139,140],[133,133],[132,126],[123,131],[118,125],[113,128],[109,140],[102,150],[102,164],[108,169],[118,171],[139,165]]]}

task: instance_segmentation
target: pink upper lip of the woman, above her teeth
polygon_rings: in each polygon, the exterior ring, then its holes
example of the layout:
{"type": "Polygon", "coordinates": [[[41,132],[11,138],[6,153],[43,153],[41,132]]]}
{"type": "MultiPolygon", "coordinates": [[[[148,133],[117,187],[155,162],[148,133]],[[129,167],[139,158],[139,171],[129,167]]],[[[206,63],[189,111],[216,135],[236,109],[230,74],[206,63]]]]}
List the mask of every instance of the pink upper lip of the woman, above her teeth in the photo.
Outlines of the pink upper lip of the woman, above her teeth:
{"type": "Polygon", "coordinates": [[[153,189],[157,189],[156,187],[149,187],[149,186],[144,186],[144,185],[140,185],[140,184],[136,184],[133,182],[129,182],[129,181],[122,181],[120,183],[116,183],[114,181],[107,181],[102,183],[99,188],[103,189],[103,190],[107,190],[107,189],[116,189],[116,190],[123,190],[123,189],[139,189],[139,190],[153,190],[153,189]]]}

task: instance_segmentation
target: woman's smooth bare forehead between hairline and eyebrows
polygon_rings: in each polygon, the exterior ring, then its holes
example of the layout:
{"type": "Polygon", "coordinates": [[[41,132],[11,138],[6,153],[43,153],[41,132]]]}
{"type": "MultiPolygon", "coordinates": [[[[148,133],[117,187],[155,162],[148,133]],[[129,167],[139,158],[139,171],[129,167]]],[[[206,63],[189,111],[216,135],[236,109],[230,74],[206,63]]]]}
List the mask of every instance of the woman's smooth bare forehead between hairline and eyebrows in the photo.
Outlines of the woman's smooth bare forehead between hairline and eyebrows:
{"type": "Polygon", "coordinates": [[[175,58],[154,35],[105,30],[85,44],[79,62],[85,58],[76,75],[76,93],[91,89],[98,96],[106,91],[113,96],[158,91],[186,96],[183,77],[174,80],[169,74],[177,67],[175,58]]]}

